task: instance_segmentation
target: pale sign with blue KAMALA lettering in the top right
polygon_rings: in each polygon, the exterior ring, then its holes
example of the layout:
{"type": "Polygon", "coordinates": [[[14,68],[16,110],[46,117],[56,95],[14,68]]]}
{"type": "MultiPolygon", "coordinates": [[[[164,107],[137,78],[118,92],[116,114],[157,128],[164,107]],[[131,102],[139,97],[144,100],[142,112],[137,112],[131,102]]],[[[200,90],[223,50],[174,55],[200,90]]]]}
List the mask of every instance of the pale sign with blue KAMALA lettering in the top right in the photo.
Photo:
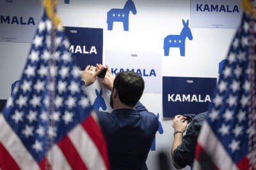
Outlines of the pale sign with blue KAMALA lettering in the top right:
{"type": "Polygon", "coordinates": [[[243,13],[241,0],[191,0],[191,27],[237,28],[243,13]]]}

